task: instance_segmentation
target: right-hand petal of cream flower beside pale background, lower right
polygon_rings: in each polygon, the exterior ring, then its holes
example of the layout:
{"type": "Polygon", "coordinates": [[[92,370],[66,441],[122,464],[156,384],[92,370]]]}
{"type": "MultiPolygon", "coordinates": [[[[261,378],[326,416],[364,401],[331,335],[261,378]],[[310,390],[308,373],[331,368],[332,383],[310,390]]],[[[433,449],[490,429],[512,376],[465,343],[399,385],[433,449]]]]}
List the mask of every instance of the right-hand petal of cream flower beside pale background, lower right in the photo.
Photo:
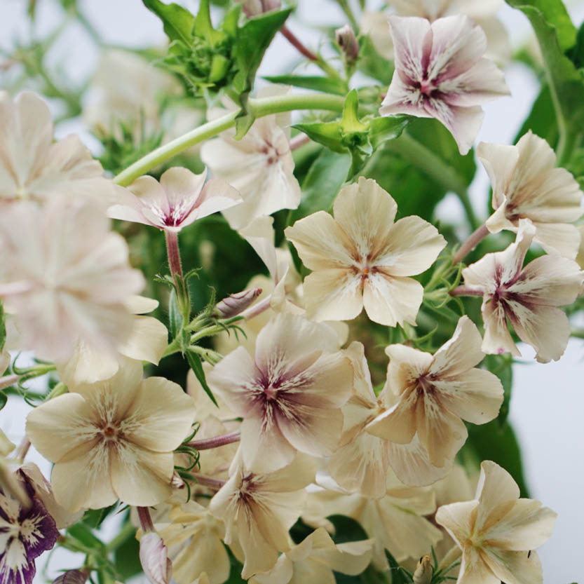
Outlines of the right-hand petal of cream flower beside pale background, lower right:
{"type": "Polygon", "coordinates": [[[503,386],[498,377],[485,369],[470,369],[456,379],[434,381],[440,402],[453,414],[475,424],[498,416],[503,403],[503,386]]]}

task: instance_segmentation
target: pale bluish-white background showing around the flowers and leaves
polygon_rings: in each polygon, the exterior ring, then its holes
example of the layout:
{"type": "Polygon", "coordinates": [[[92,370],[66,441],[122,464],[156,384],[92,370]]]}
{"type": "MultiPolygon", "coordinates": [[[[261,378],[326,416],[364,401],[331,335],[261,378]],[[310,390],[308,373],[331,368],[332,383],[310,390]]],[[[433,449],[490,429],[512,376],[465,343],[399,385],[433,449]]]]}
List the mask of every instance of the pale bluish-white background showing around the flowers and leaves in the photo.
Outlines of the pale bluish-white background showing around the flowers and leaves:
{"type": "MultiPolygon", "coordinates": [[[[26,4],[25,0],[0,0],[1,48],[8,48],[15,39],[27,38],[26,4]]],[[[38,4],[38,30],[48,32],[60,22],[60,11],[52,0],[39,0],[38,4]]],[[[85,0],[80,4],[104,39],[112,44],[139,48],[165,41],[161,23],[140,0],[85,0]]],[[[196,11],[198,2],[184,0],[182,4],[196,11]]],[[[299,5],[297,18],[290,20],[289,26],[308,46],[318,42],[319,34],[304,27],[303,21],[318,25],[343,25],[345,22],[332,0],[299,0],[299,5]]],[[[583,1],[569,3],[569,10],[576,25],[580,25],[584,18],[583,1]]],[[[506,5],[499,16],[508,28],[513,46],[520,46],[531,31],[527,19],[506,5]]],[[[97,56],[95,45],[76,25],[62,36],[52,54],[55,62],[64,62],[73,79],[85,78],[95,67],[97,56]]],[[[295,62],[294,49],[278,35],[259,72],[264,75],[286,72],[287,65],[295,62]]],[[[485,107],[487,115],[477,142],[510,143],[538,93],[534,76],[522,65],[507,67],[505,76],[512,95],[485,107]]],[[[57,137],[70,132],[81,133],[89,147],[95,145],[79,122],[58,128],[57,137]]],[[[471,187],[480,216],[485,208],[488,185],[486,172],[480,167],[471,187]]],[[[442,203],[440,212],[461,213],[454,196],[442,203]]],[[[548,365],[535,362],[531,347],[521,346],[521,350],[524,364],[517,364],[514,369],[510,421],[521,442],[531,496],[559,515],[554,536],[540,549],[544,582],[570,584],[584,580],[584,342],[572,339],[562,360],[548,365]]],[[[0,427],[13,442],[19,442],[24,434],[26,410],[22,401],[11,400],[0,412],[0,427]]],[[[48,474],[48,463],[34,449],[30,458],[48,474]]],[[[114,520],[106,529],[111,534],[115,527],[114,520]]],[[[76,564],[74,555],[59,550],[50,560],[49,575],[54,578],[61,567],[77,567],[81,561],[76,564]]],[[[43,559],[37,562],[35,583],[43,582],[44,563],[43,559]]]]}

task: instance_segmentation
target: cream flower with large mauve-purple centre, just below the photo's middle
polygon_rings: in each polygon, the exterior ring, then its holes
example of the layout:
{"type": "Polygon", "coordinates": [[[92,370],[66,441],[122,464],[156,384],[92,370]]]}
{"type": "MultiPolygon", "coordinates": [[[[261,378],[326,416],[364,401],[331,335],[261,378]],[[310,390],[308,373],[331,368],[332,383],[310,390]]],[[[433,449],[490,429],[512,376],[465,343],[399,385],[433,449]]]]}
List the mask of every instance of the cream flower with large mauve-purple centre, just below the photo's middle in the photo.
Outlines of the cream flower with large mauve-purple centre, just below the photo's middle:
{"type": "Polygon", "coordinates": [[[245,466],[266,473],[292,462],[297,450],[332,454],[343,428],[353,368],[324,324],[280,314],[259,333],[255,356],[238,347],[208,376],[212,391],[243,417],[245,466]]]}

